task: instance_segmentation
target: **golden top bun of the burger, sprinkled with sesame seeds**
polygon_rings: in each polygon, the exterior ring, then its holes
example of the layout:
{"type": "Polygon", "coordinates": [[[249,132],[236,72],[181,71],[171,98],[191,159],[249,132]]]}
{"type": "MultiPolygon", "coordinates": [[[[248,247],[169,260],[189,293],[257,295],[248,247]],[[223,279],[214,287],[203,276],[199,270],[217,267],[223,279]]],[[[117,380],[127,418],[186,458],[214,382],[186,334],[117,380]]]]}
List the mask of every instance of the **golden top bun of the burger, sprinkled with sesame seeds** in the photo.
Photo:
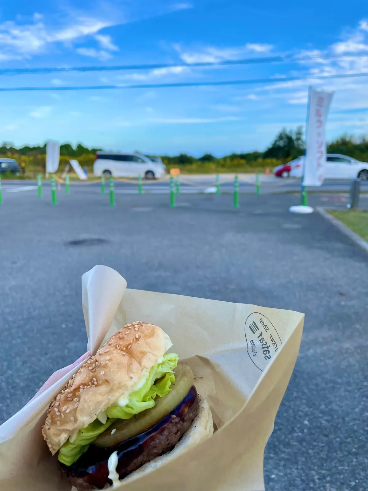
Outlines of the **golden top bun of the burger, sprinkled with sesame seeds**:
{"type": "Polygon", "coordinates": [[[171,346],[169,336],[147,322],[127,324],[112,335],[51,402],[42,434],[52,454],[131,392],[171,346]]]}

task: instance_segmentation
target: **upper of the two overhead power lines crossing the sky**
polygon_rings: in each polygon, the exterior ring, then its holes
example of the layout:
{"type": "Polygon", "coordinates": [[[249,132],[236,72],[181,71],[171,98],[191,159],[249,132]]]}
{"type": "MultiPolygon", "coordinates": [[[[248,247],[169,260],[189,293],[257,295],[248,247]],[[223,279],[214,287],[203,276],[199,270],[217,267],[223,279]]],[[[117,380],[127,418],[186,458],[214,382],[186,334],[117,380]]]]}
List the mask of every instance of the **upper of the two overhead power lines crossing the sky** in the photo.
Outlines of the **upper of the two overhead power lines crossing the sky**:
{"type": "Polygon", "coordinates": [[[337,55],[304,55],[304,56],[263,56],[260,58],[243,58],[238,60],[200,61],[196,63],[154,63],[139,65],[111,65],[111,66],[75,66],[75,67],[45,67],[45,68],[2,68],[0,75],[45,75],[50,73],[67,72],[115,72],[127,70],[155,70],[159,68],[199,68],[210,66],[232,66],[262,63],[294,63],[300,61],[314,61],[317,59],[363,58],[368,53],[344,53],[337,55]]]}

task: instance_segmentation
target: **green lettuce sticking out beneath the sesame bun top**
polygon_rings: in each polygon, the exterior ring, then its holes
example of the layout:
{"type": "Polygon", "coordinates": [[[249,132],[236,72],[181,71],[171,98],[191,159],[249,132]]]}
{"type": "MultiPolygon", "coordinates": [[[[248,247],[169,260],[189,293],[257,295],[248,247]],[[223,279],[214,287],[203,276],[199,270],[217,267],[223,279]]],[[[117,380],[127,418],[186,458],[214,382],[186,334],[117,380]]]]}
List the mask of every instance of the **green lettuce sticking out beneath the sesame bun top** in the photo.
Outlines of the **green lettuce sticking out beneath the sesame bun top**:
{"type": "Polygon", "coordinates": [[[95,419],[86,428],[79,430],[73,443],[68,439],[60,448],[58,460],[65,465],[72,465],[88,450],[88,446],[97,436],[103,433],[116,419],[130,419],[135,414],[155,406],[155,398],[163,397],[171,390],[175,382],[174,368],[178,366],[179,356],[175,353],[163,355],[160,363],[153,366],[142,387],[131,392],[128,403],[122,407],[114,404],[106,409],[105,424],[95,419]]]}

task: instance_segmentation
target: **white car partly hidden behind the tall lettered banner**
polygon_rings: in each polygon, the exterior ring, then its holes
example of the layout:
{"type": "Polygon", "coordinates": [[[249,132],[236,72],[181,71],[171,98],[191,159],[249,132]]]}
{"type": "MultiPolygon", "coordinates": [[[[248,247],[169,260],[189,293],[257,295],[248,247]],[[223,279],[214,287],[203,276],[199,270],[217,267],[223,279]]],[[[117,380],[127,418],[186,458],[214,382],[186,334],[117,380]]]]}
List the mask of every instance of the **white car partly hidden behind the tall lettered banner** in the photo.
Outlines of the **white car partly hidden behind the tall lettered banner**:
{"type": "MultiPolygon", "coordinates": [[[[297,163],[299,165],[292,165],[290,176],[302,177],[303,157],[296,160],[299,161],[297,163]]],[[[290,162],[290,164],[293,163],[290,162]]],[[[355,179],[360,177],[363,181],[368,181],[368,163],[359,162],[352,157],[346,157],[346,155],[327,154],[324,177],[326,179],[355,179]]]]}

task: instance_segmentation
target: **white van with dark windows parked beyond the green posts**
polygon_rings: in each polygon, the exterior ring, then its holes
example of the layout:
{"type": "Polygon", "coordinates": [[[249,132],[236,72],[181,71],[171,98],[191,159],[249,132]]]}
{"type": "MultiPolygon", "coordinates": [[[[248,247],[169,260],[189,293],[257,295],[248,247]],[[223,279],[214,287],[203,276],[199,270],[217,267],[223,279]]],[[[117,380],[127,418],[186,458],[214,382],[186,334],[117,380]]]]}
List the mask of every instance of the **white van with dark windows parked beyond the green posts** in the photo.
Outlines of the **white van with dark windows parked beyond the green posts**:
{"type": "Polygon", "coordinates": [[[97,152],[93,164],[95,176],[138,177],[157,179],[166,175],[166,166],[159,157],[138,153],[97,152]],[[154,160],[155,159],[155,160],[154,160]]]}

